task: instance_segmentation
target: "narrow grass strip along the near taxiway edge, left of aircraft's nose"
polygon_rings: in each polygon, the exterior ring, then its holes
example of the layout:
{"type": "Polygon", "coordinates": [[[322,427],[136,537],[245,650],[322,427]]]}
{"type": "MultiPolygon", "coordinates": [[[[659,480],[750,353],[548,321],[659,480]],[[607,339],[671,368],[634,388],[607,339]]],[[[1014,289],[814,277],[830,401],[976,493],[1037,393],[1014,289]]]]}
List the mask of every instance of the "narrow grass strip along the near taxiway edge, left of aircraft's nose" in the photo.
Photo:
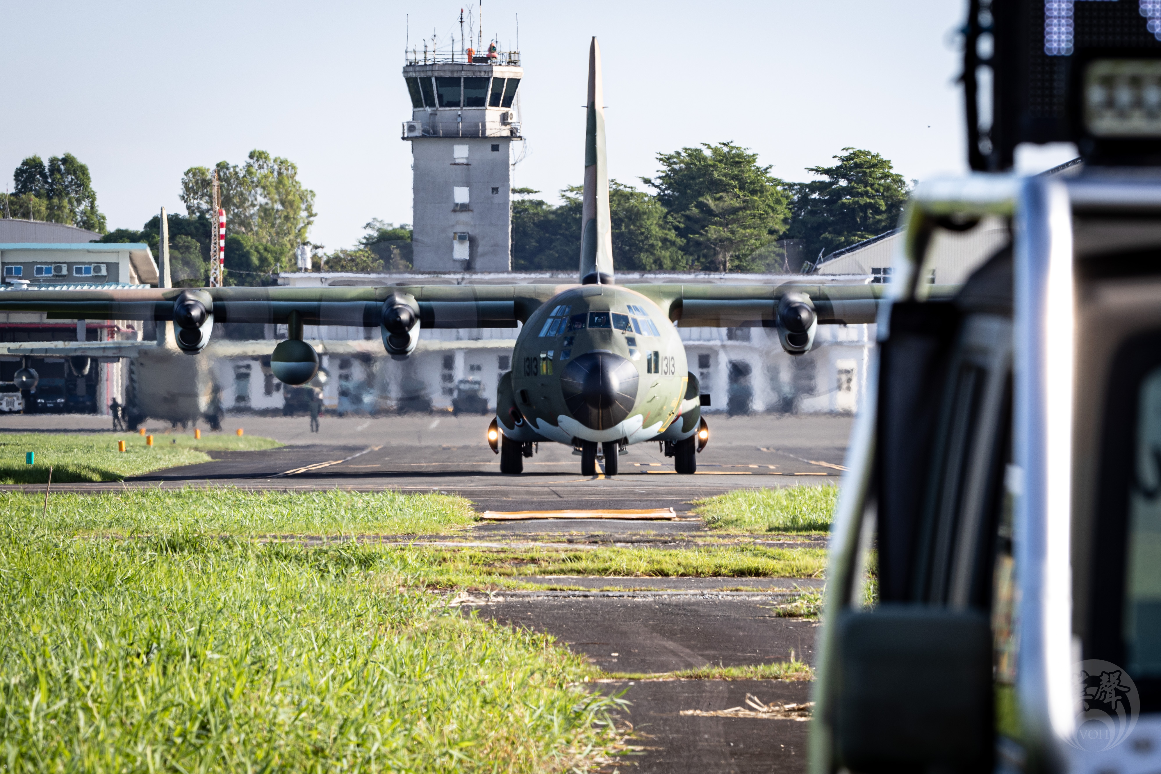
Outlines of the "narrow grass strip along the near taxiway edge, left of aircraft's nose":
{"type": "Polygon", "coordinates": [[[163,494],[127,489],[51,494],[42,519],[43,501],[39,493],[9,492],[0,495],[0,508],[28,513],[60,535],[434,535],[476,521],[471,502],[447,494],[248,492],[235,487],[163,494]]]}

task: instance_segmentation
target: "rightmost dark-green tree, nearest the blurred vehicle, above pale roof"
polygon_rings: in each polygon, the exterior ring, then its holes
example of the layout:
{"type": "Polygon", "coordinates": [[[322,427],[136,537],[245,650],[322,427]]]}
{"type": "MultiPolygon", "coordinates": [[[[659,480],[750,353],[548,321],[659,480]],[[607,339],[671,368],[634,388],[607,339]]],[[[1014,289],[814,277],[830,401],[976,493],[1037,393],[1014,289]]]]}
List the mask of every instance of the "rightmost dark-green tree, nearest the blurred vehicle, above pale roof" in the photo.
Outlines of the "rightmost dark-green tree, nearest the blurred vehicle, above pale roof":
{"type": "Polygon", "coordinates": [[[788,237],[806,241],[809,260],[899,225],[909,189],[889,160],[871,151],[844,147],[830,167],[809,167],[824,178],[792,183],[794,219],[788,237]]]}

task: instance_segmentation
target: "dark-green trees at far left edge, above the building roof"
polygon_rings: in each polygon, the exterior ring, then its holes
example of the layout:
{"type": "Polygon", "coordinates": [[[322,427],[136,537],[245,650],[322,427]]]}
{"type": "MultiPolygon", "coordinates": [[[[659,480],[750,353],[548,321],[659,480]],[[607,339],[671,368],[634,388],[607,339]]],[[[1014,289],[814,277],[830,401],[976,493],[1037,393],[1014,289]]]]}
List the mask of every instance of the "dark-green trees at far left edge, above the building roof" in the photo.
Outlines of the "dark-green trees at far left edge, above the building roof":
{"type": "Polygon", "coordinates": [[[106,232],[88,167],[72,153],[53,155],[46,165],[41,157],[30,155],[16,167],[13,182],[13,193],[0,202],[10,217],[106,232]]]}

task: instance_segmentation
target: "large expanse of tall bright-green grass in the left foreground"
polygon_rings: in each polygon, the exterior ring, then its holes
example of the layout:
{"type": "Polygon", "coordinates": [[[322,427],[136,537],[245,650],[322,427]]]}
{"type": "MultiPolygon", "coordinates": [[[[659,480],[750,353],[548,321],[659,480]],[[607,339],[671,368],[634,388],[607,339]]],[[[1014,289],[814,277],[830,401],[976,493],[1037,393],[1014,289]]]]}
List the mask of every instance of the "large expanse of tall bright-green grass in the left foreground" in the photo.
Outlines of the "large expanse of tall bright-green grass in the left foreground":
{"type": "Polygon", "coordinates": [[[414,591],[391,551],[75,540],[5,500],[6,774],[563,771],[613,742],[591,666],[414,591]]]}

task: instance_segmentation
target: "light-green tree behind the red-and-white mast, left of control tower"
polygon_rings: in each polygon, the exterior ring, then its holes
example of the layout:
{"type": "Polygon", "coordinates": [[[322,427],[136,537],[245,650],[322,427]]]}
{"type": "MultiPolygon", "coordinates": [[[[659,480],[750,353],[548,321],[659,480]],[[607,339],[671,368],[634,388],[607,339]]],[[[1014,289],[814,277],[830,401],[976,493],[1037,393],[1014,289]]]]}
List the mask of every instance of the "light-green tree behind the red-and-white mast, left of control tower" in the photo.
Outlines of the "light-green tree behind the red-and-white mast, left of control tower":
{"type": "MultiPolygon", "coordinates": [[[[293,266],[294,251],[307,243],[307,233],[315,222],[315,191],[298,181],[298,167],[287,159],[254,150],[244,166],[219,161],[216,169],[228,233],[246,237],[252,252],[262,255],[257,265],[269,273],[293,266]]],[[[205,216],[216,222],[212,187],[212,172],[207,167],[190,167],[182,175],[181,201],[192,217],[205,216]]]]}

